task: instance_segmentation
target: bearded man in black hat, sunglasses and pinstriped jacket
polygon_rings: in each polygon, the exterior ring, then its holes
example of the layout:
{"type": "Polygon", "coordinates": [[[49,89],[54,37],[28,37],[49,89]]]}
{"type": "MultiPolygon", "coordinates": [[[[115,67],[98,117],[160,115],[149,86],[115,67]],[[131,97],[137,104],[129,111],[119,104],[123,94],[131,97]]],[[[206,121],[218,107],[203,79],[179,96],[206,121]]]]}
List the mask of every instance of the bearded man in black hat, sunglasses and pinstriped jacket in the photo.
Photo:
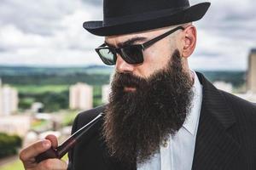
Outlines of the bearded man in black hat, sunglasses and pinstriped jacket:
{"type": "Polygon", "coordinates": [[[214,88],[189,69],[196,44],[192,22],[210,3],[104,0],[104,20],[84,28],[105,42],[96,53],[115,65],[108,105],[84,111],[73,133],[103,118],[64,161],[35,156],[56,147],[48,136],[20,152],[29,169],[254,170],[256,107],[214,88]]]}

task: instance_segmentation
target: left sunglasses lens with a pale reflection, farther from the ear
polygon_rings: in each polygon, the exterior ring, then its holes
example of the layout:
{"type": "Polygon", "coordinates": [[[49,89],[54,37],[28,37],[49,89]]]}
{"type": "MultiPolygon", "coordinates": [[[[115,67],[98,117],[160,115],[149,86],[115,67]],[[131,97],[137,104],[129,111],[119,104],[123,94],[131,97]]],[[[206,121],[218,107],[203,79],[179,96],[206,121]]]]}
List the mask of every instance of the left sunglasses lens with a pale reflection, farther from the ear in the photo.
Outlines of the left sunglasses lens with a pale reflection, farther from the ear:
{"type": "Polygon", "coordinates": [[[101,57],[103,63],[106,65],[115,65],[115,54],[113,54],[110,48],[99,48],[96,52],[101,57]]]}

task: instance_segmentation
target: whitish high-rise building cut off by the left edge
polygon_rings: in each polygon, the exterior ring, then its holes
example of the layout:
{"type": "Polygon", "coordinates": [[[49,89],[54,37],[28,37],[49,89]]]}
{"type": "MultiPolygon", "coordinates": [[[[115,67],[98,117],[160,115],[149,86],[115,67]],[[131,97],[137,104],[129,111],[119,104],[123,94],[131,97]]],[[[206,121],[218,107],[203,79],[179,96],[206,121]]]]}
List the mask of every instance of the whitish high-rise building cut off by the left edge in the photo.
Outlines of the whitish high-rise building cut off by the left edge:
{"type": "Polygon", "coordinates": [[[0,116],[9,116],[18,111],[18,103],[17,90],[0,84],[0,116]]]}

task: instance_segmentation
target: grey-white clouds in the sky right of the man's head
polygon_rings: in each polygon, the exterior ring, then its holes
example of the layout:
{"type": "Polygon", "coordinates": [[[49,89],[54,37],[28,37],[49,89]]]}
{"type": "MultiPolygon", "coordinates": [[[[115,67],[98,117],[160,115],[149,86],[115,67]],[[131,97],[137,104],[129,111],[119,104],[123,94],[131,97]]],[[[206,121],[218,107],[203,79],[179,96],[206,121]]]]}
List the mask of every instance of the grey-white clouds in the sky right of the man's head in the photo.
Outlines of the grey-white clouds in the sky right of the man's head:
{"type": "Polygon", "coordinates": [[[190,65],[196,69],[246,70],[248,53],[256,47],[256,2],[212,0],[211,3],[205,17],[195,23],[198,47],[190,65]]]}

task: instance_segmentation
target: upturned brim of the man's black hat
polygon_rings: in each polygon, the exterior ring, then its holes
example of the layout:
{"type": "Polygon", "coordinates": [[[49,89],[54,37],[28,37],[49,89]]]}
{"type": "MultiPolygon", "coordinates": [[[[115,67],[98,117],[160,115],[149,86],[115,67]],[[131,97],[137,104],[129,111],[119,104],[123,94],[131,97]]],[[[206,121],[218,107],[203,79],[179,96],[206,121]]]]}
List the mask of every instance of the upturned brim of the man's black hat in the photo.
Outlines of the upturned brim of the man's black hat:
{"type": "Polygon", "coordinates": [[[189,23],[201,18],[207,13],[211,3],[198,3],[174,14],[160,18],[148,18],[144,20],[128,22],[115,26],[103,26],[103,21],[84,22],[84,29],[96,36],[113,36],[128,34],[137,31],[148,31],[165,26],[175,26],[189,23]]]}

